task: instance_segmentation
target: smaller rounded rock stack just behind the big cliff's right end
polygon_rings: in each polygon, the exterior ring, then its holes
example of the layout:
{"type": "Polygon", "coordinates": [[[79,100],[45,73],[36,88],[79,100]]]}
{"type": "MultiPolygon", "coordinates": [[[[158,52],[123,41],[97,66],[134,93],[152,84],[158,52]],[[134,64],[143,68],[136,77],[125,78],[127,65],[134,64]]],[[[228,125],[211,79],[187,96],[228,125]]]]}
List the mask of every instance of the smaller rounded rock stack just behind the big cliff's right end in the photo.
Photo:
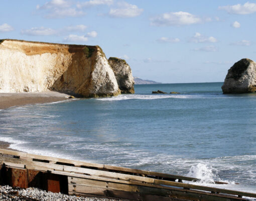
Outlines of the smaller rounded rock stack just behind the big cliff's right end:
{"type": "Polygon", "coordinates": [[[130,65],[121,58],[109,57],[121,93],[134,93],[134,77],[130,65]]]}

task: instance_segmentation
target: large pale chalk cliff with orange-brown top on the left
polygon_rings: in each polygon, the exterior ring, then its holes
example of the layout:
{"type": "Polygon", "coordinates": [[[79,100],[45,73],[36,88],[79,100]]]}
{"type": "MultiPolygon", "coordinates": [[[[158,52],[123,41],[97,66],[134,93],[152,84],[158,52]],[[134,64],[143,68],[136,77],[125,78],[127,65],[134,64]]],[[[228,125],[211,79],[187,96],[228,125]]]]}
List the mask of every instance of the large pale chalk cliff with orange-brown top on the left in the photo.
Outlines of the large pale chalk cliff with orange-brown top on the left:
{"type": "Polygon", "coordinates": [[[120,93],[99,46],[0,40],[0,92],[47,90],[84,97],[120,93]]]}

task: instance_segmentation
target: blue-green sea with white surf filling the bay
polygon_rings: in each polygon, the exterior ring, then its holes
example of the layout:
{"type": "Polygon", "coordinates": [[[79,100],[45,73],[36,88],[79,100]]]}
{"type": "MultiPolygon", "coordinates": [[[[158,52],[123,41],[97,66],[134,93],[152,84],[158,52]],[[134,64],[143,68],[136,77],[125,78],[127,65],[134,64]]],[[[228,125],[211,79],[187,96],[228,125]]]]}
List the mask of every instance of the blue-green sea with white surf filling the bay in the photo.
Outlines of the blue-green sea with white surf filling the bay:
{"type": "Polygon", "coordinates": [[[3,109],[0,140],[29,153],[255,193],[256,93],[222,94],[222,84],[140,84],[135,94],[3,109]],[[152,94],[158,89],[168,93],[152,94]]]}

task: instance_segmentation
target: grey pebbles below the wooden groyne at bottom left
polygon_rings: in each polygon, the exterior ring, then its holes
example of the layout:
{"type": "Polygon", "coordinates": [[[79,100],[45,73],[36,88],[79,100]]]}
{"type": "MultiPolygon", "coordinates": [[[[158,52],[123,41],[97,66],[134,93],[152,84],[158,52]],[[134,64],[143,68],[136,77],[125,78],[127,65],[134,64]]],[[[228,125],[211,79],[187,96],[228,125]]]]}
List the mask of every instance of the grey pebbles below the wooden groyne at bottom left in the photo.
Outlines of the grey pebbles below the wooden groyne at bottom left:
{"type": "Polygon", "coordinates": [[[27,189],[19,187],[11,187],[9,185],[0,186],[0,200],[104,200],[104,201],[116,201],[116,199],[99,198],[99,197],[78,197],[71,196],[62,193],[46,192],[34,187],[27,189]]]}

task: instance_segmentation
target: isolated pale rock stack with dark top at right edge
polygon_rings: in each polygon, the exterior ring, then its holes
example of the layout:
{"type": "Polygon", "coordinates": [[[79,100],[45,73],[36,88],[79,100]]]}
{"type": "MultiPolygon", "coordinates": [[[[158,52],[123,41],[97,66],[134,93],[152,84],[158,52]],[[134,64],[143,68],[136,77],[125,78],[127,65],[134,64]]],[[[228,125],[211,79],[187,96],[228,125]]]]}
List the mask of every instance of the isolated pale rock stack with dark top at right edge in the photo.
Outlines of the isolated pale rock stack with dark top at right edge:
{"type": "Polygon", "coordinates": [[[249,93],[256,91],[256,62],[243,58],[227,72],[223,93],[249,93]]]}

